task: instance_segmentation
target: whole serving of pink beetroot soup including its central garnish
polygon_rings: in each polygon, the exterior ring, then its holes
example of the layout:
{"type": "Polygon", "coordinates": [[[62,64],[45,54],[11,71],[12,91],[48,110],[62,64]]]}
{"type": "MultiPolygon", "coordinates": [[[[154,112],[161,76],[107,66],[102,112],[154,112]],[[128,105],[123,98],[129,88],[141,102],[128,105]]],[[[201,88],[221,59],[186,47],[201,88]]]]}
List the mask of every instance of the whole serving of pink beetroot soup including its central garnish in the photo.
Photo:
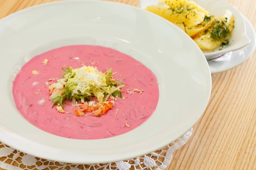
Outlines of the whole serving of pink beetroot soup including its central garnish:
{"type": "Polygon", "coordinates": [[[27,121],[72,139],[118,136],[155,111],[157,77],[112,48],[72,45],[33,57],[17,74],[13,96],[27,121]]]}

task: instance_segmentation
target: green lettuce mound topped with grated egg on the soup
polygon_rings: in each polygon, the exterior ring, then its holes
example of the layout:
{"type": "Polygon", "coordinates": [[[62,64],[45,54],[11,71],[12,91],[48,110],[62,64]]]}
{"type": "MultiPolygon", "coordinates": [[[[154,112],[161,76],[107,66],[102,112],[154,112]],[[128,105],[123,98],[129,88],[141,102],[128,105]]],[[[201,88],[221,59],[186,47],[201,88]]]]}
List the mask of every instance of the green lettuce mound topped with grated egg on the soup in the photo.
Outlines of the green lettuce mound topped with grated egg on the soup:
{"type": "Polygon", "coordinates": [[[64,71],[63,79],[58,80],[65,84],[63,94],[55,97],[52,100],[54,107],[60,104],[63,108],[63,101],[70,99],[75,104],[76,102],[90,101],[90,98],[96,96],[99,103],[107,101],[112,95],[114,97],[122,97],[120,88],[124,87],[122,81],[118,82],[111,78],[113,73],[112,68],[107,74],[98,71],[97,68],[83,66],[73,69],[71,67],[62,68],[64,71]]]}

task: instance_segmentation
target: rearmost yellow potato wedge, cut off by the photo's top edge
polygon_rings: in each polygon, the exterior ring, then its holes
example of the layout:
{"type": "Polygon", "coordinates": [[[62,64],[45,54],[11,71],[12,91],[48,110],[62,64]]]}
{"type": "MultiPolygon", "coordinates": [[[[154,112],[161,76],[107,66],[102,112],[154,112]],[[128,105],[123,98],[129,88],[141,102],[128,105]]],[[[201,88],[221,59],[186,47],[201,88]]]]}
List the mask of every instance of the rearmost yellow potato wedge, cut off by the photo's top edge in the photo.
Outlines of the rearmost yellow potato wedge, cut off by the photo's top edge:
{"type": "Polygon", "coordinates": [[[203,7],[199,6],[195,2],[191,0],[159,0],[161,3],[165,3],[166,5],[172,7],[172,8],[191,8],[196,9],[200,12],[203,12],[206,16],[209,16],[209,12],[206,11],[203,7]]]}

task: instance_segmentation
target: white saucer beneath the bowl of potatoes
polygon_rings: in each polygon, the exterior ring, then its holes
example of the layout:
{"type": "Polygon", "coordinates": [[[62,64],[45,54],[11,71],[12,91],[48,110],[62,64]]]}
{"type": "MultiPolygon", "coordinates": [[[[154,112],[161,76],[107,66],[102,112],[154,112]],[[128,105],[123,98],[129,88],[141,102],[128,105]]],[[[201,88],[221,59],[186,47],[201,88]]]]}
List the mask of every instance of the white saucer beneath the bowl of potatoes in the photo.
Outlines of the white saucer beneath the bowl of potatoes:
{"type": "Polygon", "coordinates": [[[256,48],[256,33],[250,21],[244,17],[245,31],[250,38],[250,43],[237,51],[232,51],[224,54],[223,56],[208,61],[211,74],[221,73],[235,68],[245,62],[255,51],[256,48]]]}

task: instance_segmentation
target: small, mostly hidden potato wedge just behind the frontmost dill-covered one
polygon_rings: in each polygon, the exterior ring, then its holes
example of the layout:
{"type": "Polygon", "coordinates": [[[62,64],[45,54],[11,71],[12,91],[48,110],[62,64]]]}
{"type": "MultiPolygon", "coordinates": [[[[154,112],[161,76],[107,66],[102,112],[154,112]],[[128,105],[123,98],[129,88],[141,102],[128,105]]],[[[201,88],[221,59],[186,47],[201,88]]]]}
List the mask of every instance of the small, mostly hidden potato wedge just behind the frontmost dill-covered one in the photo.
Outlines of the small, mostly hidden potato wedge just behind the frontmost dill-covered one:
{"type": "Polygon", "coordinates": [[[205,29],[209,28],[212,23],[215,21],[214,16],[205,16],[204,21],[198,25],[195,26],[186,26],[186,33],[190,36],[193,37],[196,34],[200,33],[201,31],[204,31],[205,29]]]}

